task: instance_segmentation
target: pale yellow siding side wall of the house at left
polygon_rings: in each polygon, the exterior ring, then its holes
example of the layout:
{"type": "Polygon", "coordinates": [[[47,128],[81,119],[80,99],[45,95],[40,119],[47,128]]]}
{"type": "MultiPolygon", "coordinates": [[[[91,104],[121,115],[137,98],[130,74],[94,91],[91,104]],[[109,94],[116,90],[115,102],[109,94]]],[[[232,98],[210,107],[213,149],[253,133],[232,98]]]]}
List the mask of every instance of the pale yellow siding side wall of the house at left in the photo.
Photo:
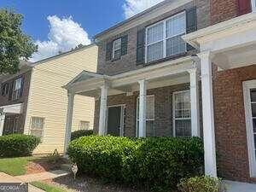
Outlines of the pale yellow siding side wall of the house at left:
{"type": "MultiPolygon", "coordinates": [[[[83,70],[96,72],[97,47],[90,46],[72,54],[45,61],[33,68],[30,96],[26,113],[25,134],[30,133],[32,117],[44,118],[44,137],[34,154],[63,152],[67,115],[67,84],[83,70]]],[[[73,130],[79,122],[89,121],[93,127],[95,101],[86,96],[75,96],[73,130]]]]}

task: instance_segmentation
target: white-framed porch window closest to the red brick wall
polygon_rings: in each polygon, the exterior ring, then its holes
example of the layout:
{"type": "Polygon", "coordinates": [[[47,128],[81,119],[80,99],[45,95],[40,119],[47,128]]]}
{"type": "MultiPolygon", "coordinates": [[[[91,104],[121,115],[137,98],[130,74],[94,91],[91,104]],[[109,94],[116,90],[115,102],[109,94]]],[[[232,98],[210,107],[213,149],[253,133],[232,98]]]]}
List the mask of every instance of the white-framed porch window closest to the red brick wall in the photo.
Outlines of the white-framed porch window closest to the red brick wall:
{"type": "Polygon", "coordinates": [[[175,137],[191,137],[190,91],[173,93],[173,127],[175,137]]]}

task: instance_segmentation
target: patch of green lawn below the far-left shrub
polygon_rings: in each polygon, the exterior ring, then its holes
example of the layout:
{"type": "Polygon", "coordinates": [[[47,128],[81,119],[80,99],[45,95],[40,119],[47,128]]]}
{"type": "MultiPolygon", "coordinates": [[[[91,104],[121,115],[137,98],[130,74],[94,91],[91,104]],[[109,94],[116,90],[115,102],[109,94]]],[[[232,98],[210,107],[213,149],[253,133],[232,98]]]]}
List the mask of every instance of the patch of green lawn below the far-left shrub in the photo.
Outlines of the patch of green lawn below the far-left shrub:
{"type": "Polygon", "coordinates": [[[12,176],[24,175],[26,165],[30,160],[36,160],[36,157],[17,157],[0,159],[0,172],[5,172],[12,176]]]}

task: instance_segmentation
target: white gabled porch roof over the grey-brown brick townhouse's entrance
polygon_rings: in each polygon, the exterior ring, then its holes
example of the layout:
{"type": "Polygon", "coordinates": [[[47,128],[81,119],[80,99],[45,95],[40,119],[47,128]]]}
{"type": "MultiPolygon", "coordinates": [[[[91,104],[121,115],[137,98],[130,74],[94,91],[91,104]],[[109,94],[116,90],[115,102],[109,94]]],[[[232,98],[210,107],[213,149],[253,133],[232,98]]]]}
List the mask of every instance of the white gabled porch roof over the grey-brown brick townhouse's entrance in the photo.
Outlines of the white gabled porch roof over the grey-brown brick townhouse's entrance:
{"type": "Polygon", "coordinates": [[[186,56],[113,76],[83,71],[65,85],[64,88],[73,94],[96,97],[99,96],[99,90],[104,84],[108,84],[110,88],[109,95],[117,95],[134,91],[134,85],[142,79],[156,83],[163,79],[166,80],[166,77],[170,77],[171,79],[176,79],[177,84],[179,80],[184,83],[181,77],[184,74],[189,74],[188,71],[196,67],[195,62],[197,61],[198,58],[196,56],[186,56]]]}

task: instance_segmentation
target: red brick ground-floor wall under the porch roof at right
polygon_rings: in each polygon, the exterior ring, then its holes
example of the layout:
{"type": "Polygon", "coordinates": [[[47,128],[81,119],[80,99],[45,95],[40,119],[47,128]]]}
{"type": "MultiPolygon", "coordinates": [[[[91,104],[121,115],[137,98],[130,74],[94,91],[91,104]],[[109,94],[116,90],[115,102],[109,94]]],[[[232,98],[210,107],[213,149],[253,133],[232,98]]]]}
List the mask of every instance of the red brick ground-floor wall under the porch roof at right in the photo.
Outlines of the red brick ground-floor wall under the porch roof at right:
{"type": "Polygon", "coordinates": [[[256,65],[214,73],[213,94],[219,174],[232,180],[249,178],[247,131],[242,82],[256,79],[256,65]]]}

